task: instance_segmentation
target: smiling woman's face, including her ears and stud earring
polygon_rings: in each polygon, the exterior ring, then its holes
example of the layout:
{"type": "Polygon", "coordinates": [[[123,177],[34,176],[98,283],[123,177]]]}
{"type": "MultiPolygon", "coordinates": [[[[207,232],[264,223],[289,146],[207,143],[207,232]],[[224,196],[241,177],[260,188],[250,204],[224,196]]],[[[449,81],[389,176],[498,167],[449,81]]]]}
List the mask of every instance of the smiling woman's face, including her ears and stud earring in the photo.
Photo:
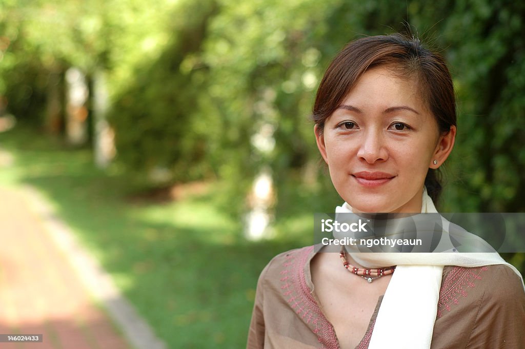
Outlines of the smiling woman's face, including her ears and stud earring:
{"type": "Polygon", "coordinates": [[[440,135],[415,81],[385,67],[367,70],[315,131],[335,189],[369,213],[420,212],[428,168],[446,160],[456,134],[440,135]]]}

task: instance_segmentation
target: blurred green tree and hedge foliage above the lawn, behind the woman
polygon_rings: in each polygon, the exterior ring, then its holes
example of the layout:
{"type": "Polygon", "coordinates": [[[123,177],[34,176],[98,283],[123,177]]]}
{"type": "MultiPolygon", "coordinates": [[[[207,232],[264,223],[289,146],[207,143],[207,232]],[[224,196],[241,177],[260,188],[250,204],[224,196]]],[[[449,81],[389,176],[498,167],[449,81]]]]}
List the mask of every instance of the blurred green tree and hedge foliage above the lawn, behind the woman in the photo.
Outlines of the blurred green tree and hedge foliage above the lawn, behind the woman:
{"type": "Polygon", "coordinates": [[[220,196],[238,213],[269,167],[277,207],[293,205],[299,188],[327,210],[337,195],[308,120],[322,73],[348,41],[409,27],[443,50],[457,88],[442,209],[523,211],[523,18],[525,3],[505,0],[6,0],[0,94],[41,125],[51,75],[102,69],[117,161],[129,171],[225,179],[220,196]],[[255,146],[261,128],[275,141],[266,150],[255,146]]]}

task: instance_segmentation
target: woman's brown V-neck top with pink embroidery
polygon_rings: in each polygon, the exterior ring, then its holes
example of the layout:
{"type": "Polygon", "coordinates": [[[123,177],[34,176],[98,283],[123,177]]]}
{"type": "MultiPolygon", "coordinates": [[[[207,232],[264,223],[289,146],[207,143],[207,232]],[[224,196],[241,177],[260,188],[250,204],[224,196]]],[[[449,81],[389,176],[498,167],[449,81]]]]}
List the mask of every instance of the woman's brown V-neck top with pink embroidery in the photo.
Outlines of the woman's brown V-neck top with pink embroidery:
{"type": "MultiPolygon", "coordinates": [[[[248,349],[339,348],[333,326],[311,291],[314,255],[313,246],[284,252],[262,271],[248,349]]],[[[358,349],[370,343],[381,300],[358,349]]],[[[430,347],[525,348],[525,292],[519,277],[503,265],[446,266],[430,347]]]]}

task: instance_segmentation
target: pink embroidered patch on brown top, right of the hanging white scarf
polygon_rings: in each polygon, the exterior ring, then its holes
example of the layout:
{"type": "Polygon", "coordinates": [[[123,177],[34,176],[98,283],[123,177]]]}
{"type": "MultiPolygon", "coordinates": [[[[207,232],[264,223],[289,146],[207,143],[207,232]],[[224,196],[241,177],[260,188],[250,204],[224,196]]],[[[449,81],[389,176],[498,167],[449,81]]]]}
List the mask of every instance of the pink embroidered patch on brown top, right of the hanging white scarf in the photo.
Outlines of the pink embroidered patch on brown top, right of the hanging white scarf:
{"type": "Polygon", "coordinates": [[[481,280],[481,272],[487,271],[487,267],[464,268],[454,267],[447,274],[441,289],[437,303],[437,319],[443,316],[443,309],[447,312],[452,309],[451,305],[459,304],[461,298],[468,295],[468,288],[476,287],[475,281],[481,280]]]}

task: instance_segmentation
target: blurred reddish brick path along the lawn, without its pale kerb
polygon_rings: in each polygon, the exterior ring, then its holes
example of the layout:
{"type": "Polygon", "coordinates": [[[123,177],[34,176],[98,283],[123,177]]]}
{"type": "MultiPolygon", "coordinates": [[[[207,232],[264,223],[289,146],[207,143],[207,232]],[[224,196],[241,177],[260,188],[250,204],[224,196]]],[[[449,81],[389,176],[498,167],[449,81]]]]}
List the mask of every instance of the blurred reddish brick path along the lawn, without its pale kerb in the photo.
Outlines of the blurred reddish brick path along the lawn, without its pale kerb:
{"type": "Polygon", "coordinates": [[[83,287],[22,194],[0,187],[0,334],[43,334],[43,343],[0,349],[130,349],[83,287]]]}

